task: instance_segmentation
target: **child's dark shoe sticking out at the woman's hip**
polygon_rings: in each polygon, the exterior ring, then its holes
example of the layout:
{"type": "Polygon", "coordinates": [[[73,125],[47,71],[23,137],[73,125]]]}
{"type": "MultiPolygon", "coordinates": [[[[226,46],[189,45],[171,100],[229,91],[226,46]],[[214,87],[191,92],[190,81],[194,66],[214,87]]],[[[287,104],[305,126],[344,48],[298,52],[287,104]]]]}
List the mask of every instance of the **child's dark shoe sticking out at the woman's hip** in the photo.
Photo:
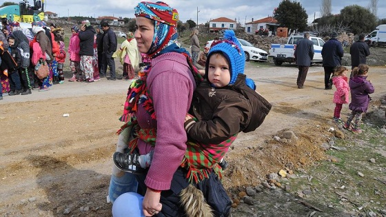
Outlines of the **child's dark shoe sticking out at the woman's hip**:
{"type": "Polygon", "coordinates": [[[141,168],[139,163],[139,154],[123,154],[121,152],[115,152],[112,155],[112,161],[118,169],[125,172],[131,172],[133,174],[143,174],[144,169],[141,168]]]}

